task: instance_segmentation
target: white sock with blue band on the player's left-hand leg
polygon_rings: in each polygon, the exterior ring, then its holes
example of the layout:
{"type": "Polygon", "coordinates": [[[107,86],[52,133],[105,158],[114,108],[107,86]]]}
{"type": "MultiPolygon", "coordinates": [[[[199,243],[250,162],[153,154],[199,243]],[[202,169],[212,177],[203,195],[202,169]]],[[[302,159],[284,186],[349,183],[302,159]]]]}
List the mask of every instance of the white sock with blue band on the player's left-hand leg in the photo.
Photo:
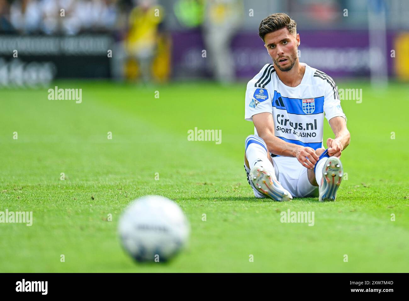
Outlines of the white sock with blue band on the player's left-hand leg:
{"type": "Polygon", "coordinates": [[[267,145],[260,137],[250,135],[246,139],[246,158],[249,161],[249,167],[252,169],[254,166],[262,166],[268,170],[276,180],[274,166],[267,158],[267,145]]]}

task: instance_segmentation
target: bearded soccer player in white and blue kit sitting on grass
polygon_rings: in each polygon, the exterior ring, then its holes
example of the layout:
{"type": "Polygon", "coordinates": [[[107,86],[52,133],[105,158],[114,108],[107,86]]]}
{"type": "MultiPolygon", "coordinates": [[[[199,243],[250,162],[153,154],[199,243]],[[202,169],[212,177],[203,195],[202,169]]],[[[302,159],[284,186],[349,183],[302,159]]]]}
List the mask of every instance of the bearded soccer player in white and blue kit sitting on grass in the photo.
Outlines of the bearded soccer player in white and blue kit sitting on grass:
{"type": "Polygon", "coordinates": [[[341,152],[350,134],[334,80],[305,63],[297,48],[297,23],[283,13],[261,21],[258,34],[273,60],[247,84],[245,140],[247,179],[258,198],[335,201],[342,180],[341,152]],[[324,113],[335,139],[323,148],[324,113]],[[320,141],[321,140],[321,141],[320,141]]]}

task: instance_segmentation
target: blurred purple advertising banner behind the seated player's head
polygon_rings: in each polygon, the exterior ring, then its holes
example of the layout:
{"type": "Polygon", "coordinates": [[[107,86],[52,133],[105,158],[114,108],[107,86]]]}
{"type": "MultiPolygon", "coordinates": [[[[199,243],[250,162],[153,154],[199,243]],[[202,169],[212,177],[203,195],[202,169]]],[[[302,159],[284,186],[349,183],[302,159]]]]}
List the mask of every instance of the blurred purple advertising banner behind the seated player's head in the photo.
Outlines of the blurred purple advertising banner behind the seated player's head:
{"type": "MultiPolygon", "coordinates": [[[[331,77],[369,76],[369,34],[357,30],[299,31],[300,61],[326,72],[331,77]]],[[[387,59],[388,74],[393,76],[391,49],[394,32],[387,32],[387,47],[377,56],[387,59]]],[[[178,32],[173,38],[173,76],[176,78],[203,78],[211,75],[209,54],[200,31],[178,32]]],[[[234,36],[230,51],[234,58],[236,75],[249,80],[272,60],[257,34],[240,33],[234,36]]]]}

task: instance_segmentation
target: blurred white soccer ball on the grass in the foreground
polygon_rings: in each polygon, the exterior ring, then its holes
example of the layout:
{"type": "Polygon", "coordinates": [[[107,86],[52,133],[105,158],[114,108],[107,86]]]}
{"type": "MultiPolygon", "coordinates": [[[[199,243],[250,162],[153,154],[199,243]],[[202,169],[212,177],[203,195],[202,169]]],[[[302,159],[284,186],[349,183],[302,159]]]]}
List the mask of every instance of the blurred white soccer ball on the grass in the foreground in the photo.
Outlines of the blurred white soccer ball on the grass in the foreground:
{"type": "Polygon", "coordinates": [[[124,249],[137,261],[163,262],[186,244],[189,223],[175,202],[150,195],[126,208],[119,235],[124,249]]]}

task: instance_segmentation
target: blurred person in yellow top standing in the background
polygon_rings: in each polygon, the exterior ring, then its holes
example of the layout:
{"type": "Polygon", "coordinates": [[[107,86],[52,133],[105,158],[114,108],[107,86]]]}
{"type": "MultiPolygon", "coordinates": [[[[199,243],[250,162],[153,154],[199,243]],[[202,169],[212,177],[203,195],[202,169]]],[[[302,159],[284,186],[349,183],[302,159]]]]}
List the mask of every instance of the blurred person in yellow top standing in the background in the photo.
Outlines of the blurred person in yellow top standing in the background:
{"type": "MultiPolygon", "coordinates": [[[[155,70],[157,77],[163,77],[166,70],[161,70],[160,62],[155,56],[159,51],[158,59],[162,60],[163,67],[169,66],[169,56],[164,56],[158,47],[169,43],[169,40],[160,34],[159,26],[164,17],[164,9],[157,5],[156,0],[134,0],[136,6],[129,15],[129,30],[126,36],[125,47],[129,58],[137,61],[137,68],[144,82],[151,81],[152,69],[155,70]]],[[[130,75],[128,65],[128,77],[130,75]]],[[[168,68],[169,69],[169,68],[168,68]]]]}

